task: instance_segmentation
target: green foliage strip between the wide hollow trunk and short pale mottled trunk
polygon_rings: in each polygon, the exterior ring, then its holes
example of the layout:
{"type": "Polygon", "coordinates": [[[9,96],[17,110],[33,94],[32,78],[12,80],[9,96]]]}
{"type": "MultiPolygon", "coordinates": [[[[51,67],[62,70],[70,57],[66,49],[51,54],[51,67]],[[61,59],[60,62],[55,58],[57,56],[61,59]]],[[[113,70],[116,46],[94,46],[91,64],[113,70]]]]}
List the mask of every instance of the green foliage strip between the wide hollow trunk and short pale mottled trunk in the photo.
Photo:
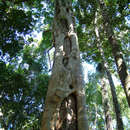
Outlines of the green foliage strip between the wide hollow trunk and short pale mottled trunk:
{"type": "Polygon", "coordinates": [[[104,130],[104,113],[102,106],[101,87],[95,74],[89,73],[89,81],[86,84],[87,116],[90,129],[104,130]]]}

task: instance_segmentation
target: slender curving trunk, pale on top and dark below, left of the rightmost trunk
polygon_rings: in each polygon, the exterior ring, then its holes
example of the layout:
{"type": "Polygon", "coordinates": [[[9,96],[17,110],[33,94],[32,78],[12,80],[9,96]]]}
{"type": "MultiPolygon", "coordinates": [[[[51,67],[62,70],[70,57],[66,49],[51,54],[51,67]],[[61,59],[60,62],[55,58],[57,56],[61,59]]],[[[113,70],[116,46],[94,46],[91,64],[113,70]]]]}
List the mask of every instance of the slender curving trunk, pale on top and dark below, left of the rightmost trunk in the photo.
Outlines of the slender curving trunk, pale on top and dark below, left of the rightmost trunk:
{"type": "Polygon", "coordinates": [[[98,46],[100,55],[102,57],[102,63],[103,63],[102,65],[103,65],[104,70],[106,71],[106,74],[107,74],[107,77],[108,77],[108,80],[109,80],[109,84],[110,84],[110,88],[111,88],[113,106],[114,106],[114,110],[115,110],[115,113],[116,113],[117,127],[118,127],[118,130],[124,130],[123,121],[122,121],[122,117],[121,117],[121,111],[120,111],[120,105],[118,103],[115,85],[113,83],[113,79],[111,77],[111,74],[108,70],[107,61],[105,59],[104,52],[103,52],[103,49],[102,49],[102,46],[101,46],[100,35],[99,35],[99,31],[98,31],[98,27],[97,27],[96,23],[97,23],[97,17],[95,18],[95,34],[96,34],[96,38],[97,38],[97,46],[98,46]]]}

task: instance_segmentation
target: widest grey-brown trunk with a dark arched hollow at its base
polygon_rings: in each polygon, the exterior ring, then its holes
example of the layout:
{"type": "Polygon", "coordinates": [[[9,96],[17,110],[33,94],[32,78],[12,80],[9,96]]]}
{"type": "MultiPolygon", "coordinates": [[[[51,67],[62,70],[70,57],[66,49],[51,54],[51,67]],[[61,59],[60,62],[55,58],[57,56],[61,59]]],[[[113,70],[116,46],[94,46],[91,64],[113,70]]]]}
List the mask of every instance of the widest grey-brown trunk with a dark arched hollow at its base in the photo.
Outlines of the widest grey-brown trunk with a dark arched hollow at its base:
{"type": "Polygon", "coordinates": [[[84,81],[71,0],[55,0],[54,65],[41,130],[88,130],[84,81]]]}

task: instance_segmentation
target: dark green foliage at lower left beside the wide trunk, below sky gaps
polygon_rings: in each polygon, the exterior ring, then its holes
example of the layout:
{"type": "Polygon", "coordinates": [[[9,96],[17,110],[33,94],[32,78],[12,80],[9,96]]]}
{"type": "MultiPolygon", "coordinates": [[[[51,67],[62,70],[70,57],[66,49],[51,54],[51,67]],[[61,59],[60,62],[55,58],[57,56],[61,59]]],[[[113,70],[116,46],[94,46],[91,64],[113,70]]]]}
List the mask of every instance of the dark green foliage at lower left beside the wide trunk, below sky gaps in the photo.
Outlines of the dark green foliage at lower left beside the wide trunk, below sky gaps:
{"type": "Polygon", "coordinates": [[[0,63],[0,67],[0,108],[2,112],[0,123],[2,127],[18,130],[39,129],[39,117],[43,111],[48,75],[39,74],[30,77],[31,75],[21,73],[22,68],[13,71],[13,66],[6,66],[3,62],[0,63]],[[13,124],[12,127],[11,124],[13,124]]]}

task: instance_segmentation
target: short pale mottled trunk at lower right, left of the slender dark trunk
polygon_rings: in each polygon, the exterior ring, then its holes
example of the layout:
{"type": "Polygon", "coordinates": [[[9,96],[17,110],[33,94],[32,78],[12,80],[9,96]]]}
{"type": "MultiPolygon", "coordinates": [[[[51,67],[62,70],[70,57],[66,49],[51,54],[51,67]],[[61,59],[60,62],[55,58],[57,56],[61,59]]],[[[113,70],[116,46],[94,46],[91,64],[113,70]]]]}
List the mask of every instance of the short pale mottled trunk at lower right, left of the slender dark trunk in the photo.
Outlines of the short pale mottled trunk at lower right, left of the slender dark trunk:
{"type": "Polygon", "coordinates": [[[105,113],[106,129],[113,130],[112,117],[110,114],[108,90],[107,90],[107,85],[104,78],[101,79],[101,87],[102,87],[102,100],[103,100],[103,107],[104,107],[104,113],[105,113]]]}

